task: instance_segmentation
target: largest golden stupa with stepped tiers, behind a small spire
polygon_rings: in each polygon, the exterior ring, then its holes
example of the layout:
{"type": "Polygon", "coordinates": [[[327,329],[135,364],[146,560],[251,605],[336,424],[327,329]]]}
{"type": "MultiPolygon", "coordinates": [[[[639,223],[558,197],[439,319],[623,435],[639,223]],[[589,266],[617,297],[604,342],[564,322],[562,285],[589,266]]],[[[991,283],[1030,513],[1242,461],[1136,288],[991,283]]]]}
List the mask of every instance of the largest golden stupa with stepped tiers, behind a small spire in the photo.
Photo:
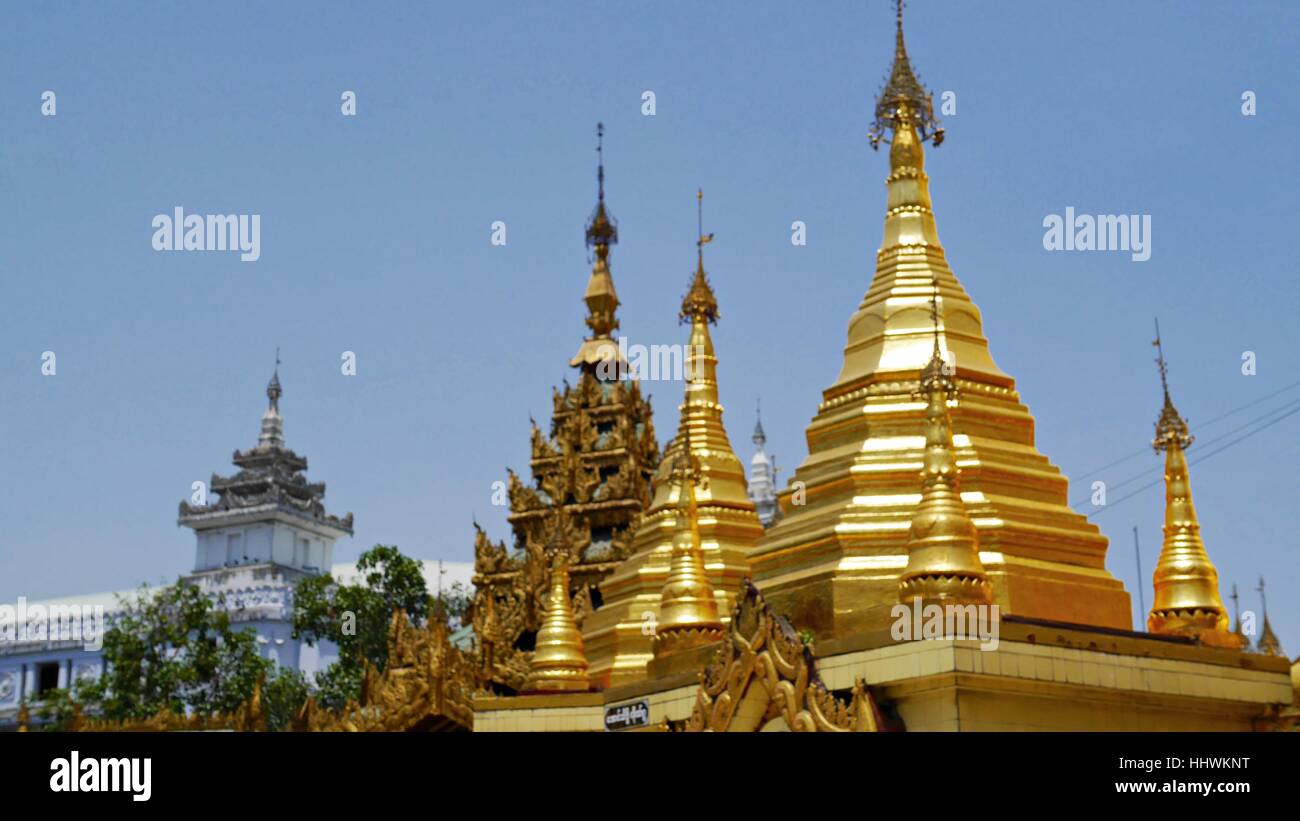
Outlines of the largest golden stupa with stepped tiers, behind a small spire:
{"type": "Polygon", "coordinates": [[[809,456],[781,494],[784,518],[753,556],[768,601],[816,635],[888,622],[907,564],[927,403],[913,396],[931,355],[928,299],[961,400],[950,407],[962,500],[1004,612],[1128,627],[1106,539],[1067,505],[1067,481],[1034,447],[1034,418],[989,355],[980,312],[948,268],[923,144],[942,140],[913,73],[900,14],[872,142],[889,143],[884,242],[849,321],[838,378],[807,429],[809,456]]]}

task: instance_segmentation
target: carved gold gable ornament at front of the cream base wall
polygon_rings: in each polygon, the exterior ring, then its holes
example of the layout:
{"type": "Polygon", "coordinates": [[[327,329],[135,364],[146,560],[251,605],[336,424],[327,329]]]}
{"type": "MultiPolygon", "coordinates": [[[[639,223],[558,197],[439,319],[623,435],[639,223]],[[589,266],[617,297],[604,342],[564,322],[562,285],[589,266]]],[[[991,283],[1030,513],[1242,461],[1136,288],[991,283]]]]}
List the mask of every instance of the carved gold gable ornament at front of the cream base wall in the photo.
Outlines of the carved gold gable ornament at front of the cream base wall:
{"type": "Polygon", "coordinates": [[[822,683],[807,646],[746,579],[723,647],[699,674],[686,731],[757,730],[780,717],[798,733],[875,733],[875,700],[862,679],[848,704],[822,683]]]}

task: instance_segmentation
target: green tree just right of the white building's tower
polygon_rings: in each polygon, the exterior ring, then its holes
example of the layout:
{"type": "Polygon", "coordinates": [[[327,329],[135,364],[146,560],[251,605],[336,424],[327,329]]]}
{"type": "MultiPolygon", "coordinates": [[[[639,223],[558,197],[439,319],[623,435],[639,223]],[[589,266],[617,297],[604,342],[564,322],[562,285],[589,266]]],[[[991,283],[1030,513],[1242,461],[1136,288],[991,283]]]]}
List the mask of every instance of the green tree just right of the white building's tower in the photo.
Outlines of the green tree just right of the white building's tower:
{"type": "Polygon", "coordinates": [[[390,544],[376,544],[356,562],[361,583],[341,585],[329,574],[298,583],[294,638],[333,642],[338,661],[316,676],[317,700],[338,709],[361,692],[364,661],[382,670],[389,659],[389,624],[402,609],[416,625],[429,614],[429,588],[420,561],[390,544]]]}

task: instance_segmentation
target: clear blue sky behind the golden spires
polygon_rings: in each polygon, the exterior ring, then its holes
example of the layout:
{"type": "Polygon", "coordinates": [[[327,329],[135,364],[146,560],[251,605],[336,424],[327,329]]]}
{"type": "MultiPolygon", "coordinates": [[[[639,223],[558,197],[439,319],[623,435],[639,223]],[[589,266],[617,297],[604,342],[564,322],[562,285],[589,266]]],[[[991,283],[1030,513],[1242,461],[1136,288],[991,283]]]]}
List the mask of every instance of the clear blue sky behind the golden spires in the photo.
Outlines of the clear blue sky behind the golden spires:
{"type": "MultiPolygon", "coordinates": [[[[1201,442],[1300,399],[1197,426],[1300,381],[1297,9],[909,4],[914,65],[957,100],[928,153],[949,262],[1135,609],[1162,491],[1097,514],[1088,483],[1115,503],[1160,460],[1086,474],[1150,439],[1152,318],[1201,442]],[[1150,260],[1045,251],[1066,207],[1150,214],[1150,260]]],[[[277,346],[287,442],[356,514],[337,560],[377,542],[469,560],[474,516],[507,537],[491,483],[526,474],[529,414],[549,418],[585,331],[598,120],[623,333],[684,342],[702,186],[728,430],[748,462],[762,396],[784,482],[872,277],[887,157],[864,135],[892,51],[885,0],[5,4],[0,601],[190,569],[177,503],[256,443],[277,346]],[[153,216],[177,205],[260,214],[261,259],[153,251],[153,216]]],[[[647,388],[664,439],[681,386],[647,388]]],[[[1297,434],[1292,416],[1192,466],[1225,596],[1236,582],[1254,609],[1266,575],[1292,655],[1297,434]]]]}

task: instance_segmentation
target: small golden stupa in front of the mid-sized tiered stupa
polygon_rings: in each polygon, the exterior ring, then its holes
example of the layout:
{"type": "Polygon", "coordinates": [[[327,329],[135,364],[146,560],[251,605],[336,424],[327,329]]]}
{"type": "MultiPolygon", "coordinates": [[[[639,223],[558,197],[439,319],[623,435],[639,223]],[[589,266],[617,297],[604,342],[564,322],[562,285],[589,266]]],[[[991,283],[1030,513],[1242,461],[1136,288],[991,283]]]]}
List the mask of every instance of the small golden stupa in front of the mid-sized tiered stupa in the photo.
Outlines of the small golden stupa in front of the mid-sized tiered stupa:
{"type": "Polygon", "coordinates": [[[716,642],[723,635],[718,600],[699,549],[696,486],[703,481],[702,472],[690,449],[690,427],[682,427],[681,435],[681,449],[672,469],[672,479],[680,488],[677,522],[672,537],[672,564],[659,598],[656,655],[716,642]]]}

